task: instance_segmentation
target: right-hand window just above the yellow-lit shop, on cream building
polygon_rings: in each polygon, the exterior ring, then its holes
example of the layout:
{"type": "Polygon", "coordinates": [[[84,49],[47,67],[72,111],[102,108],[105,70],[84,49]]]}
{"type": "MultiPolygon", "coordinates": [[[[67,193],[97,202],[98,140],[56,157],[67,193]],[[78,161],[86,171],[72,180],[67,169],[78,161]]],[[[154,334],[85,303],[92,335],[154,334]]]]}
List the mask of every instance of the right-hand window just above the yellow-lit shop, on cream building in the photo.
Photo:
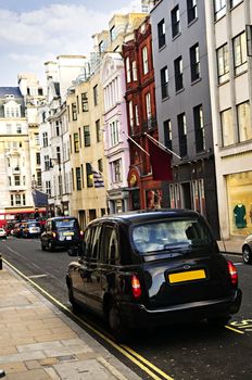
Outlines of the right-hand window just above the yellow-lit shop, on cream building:
{"type": "Polygon", "coordinates": [[[252,139],[252,126],[250,119],[250,102],[237,105],[237,119],[239,130],[239,141],[252,139]]]}

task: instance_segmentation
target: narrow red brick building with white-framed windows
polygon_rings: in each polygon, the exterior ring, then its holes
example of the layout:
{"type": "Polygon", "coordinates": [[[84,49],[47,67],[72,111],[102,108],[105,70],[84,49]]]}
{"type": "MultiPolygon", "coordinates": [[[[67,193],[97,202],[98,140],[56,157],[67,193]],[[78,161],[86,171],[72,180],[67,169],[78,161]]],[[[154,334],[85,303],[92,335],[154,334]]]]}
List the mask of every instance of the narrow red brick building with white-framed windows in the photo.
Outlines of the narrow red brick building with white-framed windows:
{"type": "Polygon", "coordinates": [[[125,100],[130,155],[128,172],[129,207],[131,210],[161,207],[161,181],[153,180],[150,157],[146,153],[148,152],[146,132],[159,140],[152,36],[149,17],[135,30],[134,39],[123,46],[123,56],[125,61],[125,100]]]}

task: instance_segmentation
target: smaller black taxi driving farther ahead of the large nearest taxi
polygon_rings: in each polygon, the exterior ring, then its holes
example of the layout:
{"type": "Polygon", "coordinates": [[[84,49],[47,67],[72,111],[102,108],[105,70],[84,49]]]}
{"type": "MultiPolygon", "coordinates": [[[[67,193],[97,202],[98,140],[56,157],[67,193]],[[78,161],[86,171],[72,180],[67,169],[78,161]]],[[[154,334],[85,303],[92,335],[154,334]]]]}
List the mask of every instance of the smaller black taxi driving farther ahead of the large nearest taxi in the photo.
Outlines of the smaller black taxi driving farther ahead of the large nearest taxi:
{"type": "Polygon", "coordinates": [[[71,216],[59,216],[47,219],[40,241],[42,251],[81,245],[83,231],[79,228],[78,219],[71,216]]]}

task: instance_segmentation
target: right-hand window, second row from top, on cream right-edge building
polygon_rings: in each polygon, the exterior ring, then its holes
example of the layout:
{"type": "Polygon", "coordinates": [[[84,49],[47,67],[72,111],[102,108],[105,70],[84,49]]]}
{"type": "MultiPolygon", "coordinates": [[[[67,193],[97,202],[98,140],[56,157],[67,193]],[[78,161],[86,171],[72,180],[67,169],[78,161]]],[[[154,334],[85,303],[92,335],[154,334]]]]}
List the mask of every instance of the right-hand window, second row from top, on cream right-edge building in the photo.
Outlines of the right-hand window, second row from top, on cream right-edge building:
{"type": "Polygon", "coordinates": [[[243,31],[232,40],[235,74],[238,75],[248,68],[247,62],[247,41],[245,33],[243,31]]]}

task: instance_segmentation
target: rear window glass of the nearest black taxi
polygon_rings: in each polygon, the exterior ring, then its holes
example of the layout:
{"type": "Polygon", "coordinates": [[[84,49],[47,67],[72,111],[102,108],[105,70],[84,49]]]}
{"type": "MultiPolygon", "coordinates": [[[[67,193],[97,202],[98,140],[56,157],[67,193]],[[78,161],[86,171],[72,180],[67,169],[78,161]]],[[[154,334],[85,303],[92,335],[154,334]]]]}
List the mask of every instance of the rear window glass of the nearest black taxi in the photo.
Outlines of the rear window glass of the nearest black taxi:
{"type": "Polygon", "coordinates": [[[133,240],[138,252],[150,253],[206,245],[212,236],[198,218],[167,219],[136,226],[133,240]]]}

